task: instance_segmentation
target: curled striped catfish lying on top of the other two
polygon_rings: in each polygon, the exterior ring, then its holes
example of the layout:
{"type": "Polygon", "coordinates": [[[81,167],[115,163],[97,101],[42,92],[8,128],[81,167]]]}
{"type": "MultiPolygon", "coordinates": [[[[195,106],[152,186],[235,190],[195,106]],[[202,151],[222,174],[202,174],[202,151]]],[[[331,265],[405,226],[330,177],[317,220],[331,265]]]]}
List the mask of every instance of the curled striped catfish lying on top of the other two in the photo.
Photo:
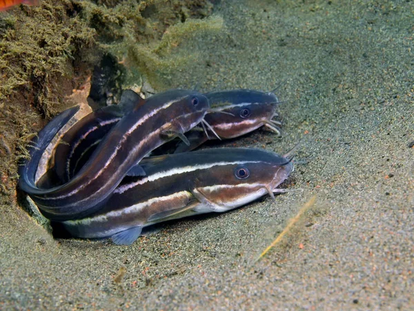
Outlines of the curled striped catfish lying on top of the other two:
{"type": "Polygon", "coordinates": [[[19,187],[30,195],[42,214],[51,220],[69,220],[92,213],[115,190],[127,173],[147,153],[164,142],[192,129],[203,120],[209,108],[204,95],[173,90],[159,93],[137,104],[112,127],[82,169],[65,184],[51,189],[35,185],[28,171],[37,167],[37,153],[45,145],[30,150],[32,160],[21,167],[19,187]]]}

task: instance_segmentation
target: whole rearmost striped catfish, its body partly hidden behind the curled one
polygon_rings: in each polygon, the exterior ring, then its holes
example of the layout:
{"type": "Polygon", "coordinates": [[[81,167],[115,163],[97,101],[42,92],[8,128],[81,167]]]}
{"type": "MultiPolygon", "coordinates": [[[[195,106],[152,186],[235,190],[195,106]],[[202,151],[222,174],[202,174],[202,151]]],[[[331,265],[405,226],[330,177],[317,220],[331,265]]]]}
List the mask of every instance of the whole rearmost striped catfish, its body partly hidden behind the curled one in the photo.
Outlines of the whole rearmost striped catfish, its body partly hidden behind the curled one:
{"type": "MultiPolygon", "coordinates": [[[[204,117],[208,129],[196,126],[186,133],[188,142],[182,142],[175,149],[175,153],[193,150],[206,140],[215,138],[235,138],[268,126],[272,131],[280,134],[280,122],[273,120],[277,117],[276,104],[279,103],[274,93],[253,90],[233,90],[204,94],[208,97],[211,109],[204,117]],[[208,131],[213,131],[208,135],[208,131]],[[218,135],[217,135],[218,133],[218,135]]],[[[130,102],[145,102],[133,91],[125,91],[122,95],[121,111],[127,111],[130,102]],[[125,109],[124,107],[127,107],[125,109]]],[[[55,174],[49,171],[46,180],[50,182],[67,182],[83,166],[90,154],[95,150],[101,138],[119,121],[117,106],[109,106],[84,117],[72,126],[62,138],[62,144],[55,153],[55,174]],[[63,161],[62,159],[66,159],[63,161]]],[[[166,153],[161,147],[156,153],[166,153]]]]}

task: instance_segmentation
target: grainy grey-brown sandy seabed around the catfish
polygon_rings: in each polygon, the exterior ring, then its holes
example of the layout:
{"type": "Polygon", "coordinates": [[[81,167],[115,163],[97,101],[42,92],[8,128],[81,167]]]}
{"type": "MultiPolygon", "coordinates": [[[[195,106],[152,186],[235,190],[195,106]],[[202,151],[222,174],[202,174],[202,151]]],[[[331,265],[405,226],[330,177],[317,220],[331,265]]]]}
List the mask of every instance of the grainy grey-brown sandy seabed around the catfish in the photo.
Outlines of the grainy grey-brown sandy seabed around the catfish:
{"type": "Polygon", "coordinates": [[[414,308],[414,2],[286,2],[222,1],[226,28],[184,44],[199,62],[171,79],[279,86],[282,138],[220,145],[284,153],[301,142],[282,187],[304,191],[160,225],[131,246],[55,241],[2,207],[1,309],[414,308]],[[304,221],[253,263],[313,195],[304,221]]]}

